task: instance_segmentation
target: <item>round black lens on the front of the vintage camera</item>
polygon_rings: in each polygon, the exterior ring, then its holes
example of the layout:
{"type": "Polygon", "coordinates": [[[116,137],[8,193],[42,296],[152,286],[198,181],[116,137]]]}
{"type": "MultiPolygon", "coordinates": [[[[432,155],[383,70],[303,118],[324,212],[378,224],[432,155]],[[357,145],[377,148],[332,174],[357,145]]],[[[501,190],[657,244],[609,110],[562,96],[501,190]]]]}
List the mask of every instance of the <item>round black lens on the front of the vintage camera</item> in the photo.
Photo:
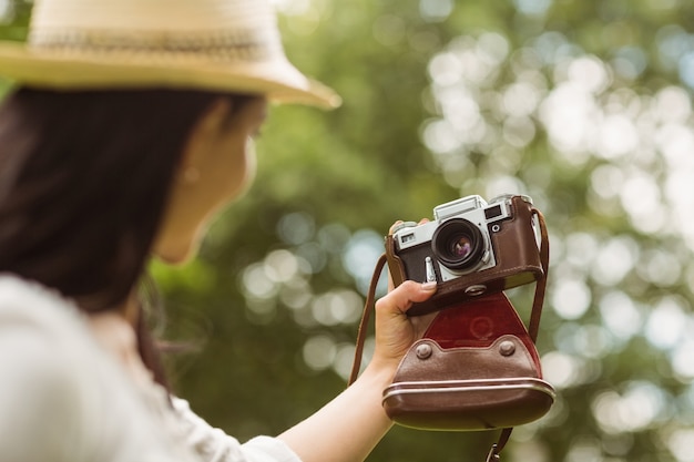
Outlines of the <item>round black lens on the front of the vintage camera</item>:
{"type": "Polygon", "coordinates": [[[484,254],[480,229],[463,218],[445,222],[431,237],[433,255],[449,269],[474,268],[484,254]]]}

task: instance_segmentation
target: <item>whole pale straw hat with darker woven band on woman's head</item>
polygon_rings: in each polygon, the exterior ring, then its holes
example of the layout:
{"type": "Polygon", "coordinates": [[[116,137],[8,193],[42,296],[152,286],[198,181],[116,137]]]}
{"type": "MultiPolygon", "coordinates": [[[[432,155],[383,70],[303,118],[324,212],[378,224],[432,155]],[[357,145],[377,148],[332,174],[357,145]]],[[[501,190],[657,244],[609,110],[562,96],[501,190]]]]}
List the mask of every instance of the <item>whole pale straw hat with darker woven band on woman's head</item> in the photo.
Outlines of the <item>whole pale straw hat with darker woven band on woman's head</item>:
{"type": "Polygon", "coordinates": [[[185,88],[340,104],[289,63],[265,0],[35,0],[29,42],[0,42],[0,74],[51,89],[185,88]]]}

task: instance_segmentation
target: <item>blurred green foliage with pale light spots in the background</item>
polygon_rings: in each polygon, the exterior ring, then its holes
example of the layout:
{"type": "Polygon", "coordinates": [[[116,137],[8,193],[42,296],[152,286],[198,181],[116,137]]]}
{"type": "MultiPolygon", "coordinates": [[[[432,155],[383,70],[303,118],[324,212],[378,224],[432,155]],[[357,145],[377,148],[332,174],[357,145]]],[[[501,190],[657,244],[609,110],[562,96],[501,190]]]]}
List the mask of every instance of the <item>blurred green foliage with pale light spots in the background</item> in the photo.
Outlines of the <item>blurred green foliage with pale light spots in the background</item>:
{"type": "MultiPolygon", "coordinates": [[[[551,233],[539,349],[559,399],[503,460],[694,460],[691,4],[277,3],[288,55],[344,105],[274,107],[254,187],[195,261],[153,264],[166,337],[193,347],[175,389],[242,440],[280,432],[345,387],[394,220],[523,193],[551,233]]],[[[12,4],[0,34],[21,40],[12,4]]],[[[369,460],[482,460],[494,438],[395,428],[369,460]]]]}

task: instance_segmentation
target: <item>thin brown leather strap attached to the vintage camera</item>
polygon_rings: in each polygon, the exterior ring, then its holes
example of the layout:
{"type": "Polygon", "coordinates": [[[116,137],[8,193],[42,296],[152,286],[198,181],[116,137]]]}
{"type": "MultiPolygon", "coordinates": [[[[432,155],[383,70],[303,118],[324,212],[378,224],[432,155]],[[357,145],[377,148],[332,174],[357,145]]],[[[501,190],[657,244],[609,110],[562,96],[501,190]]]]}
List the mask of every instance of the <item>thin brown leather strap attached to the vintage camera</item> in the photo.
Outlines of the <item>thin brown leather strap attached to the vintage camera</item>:
{"type": "MultiPolygon", "coordinates": [[[[540,261],[543,269],[542,277],[538,278],[535,281],[535,290],[532,302],[532,309],[530,314],[530,319],[528,322],[528,336],[532,343],[537,342],[538,333],[540,330],[540,318],[542,315],[542,306],[544,304],[544,292],[547,288],[547,276],[549,271],[549,236],[547,232],[547,225],[544,222],[544,217],[542,213],[532,208],[532,214],[537,216],[540,232],[540,261]]],[[[366,302],[364,306],[364,312],[361,316],[361,321],[359,322],[359,329],[357,333],[356,348],[355,348],[355,359],[353,362],[351,372],[348,380],[348,386],[354,383],[354,381],[359,376],[360,367],[361,367],[361,358],[364,355],[364,346],[367,337],[367,330],[369,327],[371,311],[375,307],[376,300],[376,288],[378,281],[380,279],[384,267],[386,266],[387,258],[386,254],[382,254],[378,261],[376,263],[376,267],[374,268],[374,274],[371,276],[371,281],[369,285],[369,290],[367,294],[366,302]]],[[[509,438],[511,435],[512,428],[504,428],[501,430],[501,434],[494,444],[492,444],[491,450],[489,451],[486,462],[499,462],[501,450],[506,446],[509,438]]]]}

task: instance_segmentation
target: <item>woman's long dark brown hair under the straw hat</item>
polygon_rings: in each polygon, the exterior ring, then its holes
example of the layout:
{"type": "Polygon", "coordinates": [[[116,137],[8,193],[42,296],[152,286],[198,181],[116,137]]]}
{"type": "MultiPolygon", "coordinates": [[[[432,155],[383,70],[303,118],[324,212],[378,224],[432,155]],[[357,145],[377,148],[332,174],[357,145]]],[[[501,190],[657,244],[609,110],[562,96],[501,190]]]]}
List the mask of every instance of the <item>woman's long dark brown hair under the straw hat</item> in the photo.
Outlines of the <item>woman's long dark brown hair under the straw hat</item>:
{"type": "MultiPolygon", "coordinates": [[[[218,97],[174,90],[19,89],[0,107],[0,273],[85,311],[140,280],[191,129],[218,97]]],[[[141,326],[141,351],[153,360],[141,326]]]]}

